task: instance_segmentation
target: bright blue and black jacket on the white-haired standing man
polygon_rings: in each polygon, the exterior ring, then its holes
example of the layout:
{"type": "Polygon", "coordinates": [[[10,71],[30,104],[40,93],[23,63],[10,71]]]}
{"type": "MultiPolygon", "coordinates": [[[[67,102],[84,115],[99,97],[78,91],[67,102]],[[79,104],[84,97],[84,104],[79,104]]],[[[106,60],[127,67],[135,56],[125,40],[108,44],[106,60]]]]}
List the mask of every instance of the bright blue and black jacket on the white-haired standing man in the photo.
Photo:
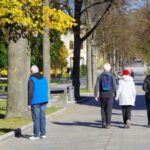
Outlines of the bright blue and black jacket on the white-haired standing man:
{"type": "Polygon", "coordinates": [[[48,82],[45,76],[36,73],[28,82],[28,105],[48,102],[48,82]]]}

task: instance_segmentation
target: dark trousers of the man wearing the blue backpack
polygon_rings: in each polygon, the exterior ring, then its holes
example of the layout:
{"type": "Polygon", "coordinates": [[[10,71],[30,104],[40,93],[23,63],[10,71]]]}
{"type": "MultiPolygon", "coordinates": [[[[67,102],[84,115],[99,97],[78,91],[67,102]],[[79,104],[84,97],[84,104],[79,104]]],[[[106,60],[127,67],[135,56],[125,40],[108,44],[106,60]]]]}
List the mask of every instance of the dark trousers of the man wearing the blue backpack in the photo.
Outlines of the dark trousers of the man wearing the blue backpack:
{"type": "Polygon", "coordinates": [[[102,125],[111,124],[113,98],[102,98],[101,100],[102,125]]]}

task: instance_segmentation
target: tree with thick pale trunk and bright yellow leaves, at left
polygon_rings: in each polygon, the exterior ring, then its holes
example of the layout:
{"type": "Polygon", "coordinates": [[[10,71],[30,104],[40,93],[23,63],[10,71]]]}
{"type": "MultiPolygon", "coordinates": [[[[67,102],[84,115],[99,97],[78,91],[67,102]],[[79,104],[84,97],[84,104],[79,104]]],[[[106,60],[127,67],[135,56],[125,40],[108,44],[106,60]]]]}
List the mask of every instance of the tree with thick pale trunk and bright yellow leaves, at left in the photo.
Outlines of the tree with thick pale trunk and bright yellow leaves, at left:
{"type": "Polygon", "coordinates": [[[9,44],[7,117],[22,115],[26,111],[29,35],[43,33],[43,27],[63,32],[74,22],[61,10],[44,6],[42,0],[0,1],[0,27],[9,44]]]}

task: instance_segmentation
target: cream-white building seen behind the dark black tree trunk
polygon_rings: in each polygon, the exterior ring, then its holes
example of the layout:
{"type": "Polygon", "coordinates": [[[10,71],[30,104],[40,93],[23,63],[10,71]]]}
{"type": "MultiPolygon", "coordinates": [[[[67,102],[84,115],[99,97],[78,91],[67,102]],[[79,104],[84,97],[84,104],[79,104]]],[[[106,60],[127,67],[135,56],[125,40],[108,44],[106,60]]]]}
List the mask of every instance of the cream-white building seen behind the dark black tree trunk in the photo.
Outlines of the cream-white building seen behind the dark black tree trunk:
{"type": "MultiPolygon", "coordinates": [[[[68,49],[68,58],[67,67],[73,67],[73,50],[74,50],[74,33],[73,31],[68,30],[66,34],[61,35],[61,40],[64,42],[64,45],[68,49]]],[[[86,65],[87,61],[87,54],[86,54],[86,40],[83,42],[81,46],[81,54],[80,54],[80,65],[86,65]]]]}

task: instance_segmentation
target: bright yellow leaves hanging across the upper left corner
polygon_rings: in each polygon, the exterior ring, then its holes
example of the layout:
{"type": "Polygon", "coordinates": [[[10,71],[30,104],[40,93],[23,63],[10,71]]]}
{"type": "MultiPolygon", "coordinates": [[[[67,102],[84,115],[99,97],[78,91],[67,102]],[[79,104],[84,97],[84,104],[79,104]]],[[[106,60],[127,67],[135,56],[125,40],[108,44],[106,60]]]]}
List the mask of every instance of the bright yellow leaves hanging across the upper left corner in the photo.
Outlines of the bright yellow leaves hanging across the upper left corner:
{"type": "Polygon", "coordinates": [[[76,25],[75,20],[61,10],[44,6],[42,0],[1,0],[0,27],[18,24],[28,31],[43,31],[43,27],[63,32],[76,25]]]}

